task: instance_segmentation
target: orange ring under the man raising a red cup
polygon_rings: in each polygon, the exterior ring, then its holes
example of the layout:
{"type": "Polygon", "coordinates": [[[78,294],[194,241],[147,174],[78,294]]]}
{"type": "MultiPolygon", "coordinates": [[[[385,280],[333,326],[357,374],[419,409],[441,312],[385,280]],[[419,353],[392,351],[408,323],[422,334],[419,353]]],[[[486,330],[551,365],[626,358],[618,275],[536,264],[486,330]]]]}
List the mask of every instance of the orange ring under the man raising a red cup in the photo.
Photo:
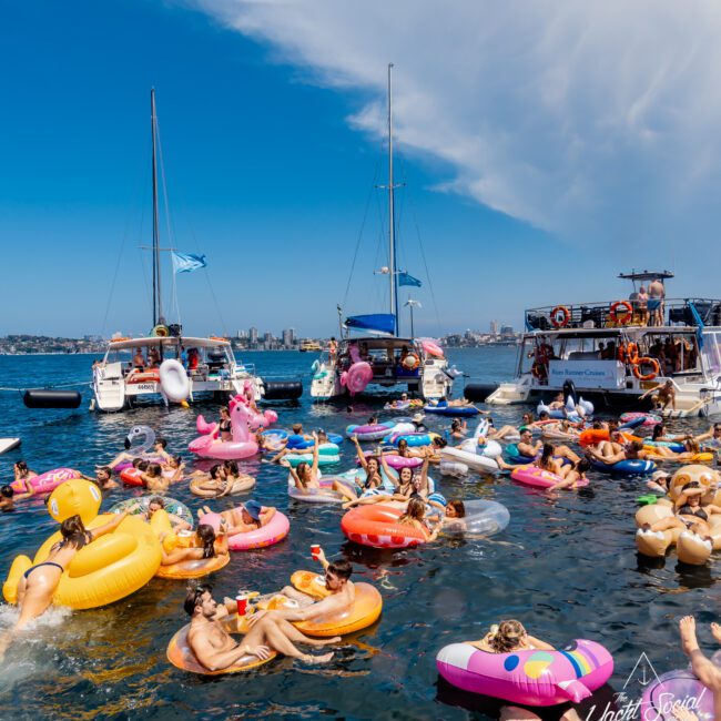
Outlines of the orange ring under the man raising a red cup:
{"type": "MultiPolygon", "coordinates": [[[[317,573],[313,571],[296,571],[291,577],[295,588],[304,593],[315,596],[316,592],[327,595],[322,581],[317,581],[317,573]]],[[[378,589],[370,583],[354,583],[355,600],[353,607],[338,613],[325,613],[308,621],[295,621],[298,631],[319,638],[345,636],[375,623],[383,611],[383,598],[378,589]]]]}

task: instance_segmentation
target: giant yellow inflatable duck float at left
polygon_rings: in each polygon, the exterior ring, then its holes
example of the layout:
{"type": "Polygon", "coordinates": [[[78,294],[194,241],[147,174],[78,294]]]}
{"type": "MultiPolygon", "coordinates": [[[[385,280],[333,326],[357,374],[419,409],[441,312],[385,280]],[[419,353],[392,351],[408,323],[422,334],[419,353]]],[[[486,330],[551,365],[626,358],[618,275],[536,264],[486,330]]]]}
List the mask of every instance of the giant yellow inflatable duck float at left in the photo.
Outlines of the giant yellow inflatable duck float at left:
{"type": "MultiPolygon", "coordinates": [[[[80,515],[88,530],[105,525],[110,514],[98,515],[102,495],[95,484],[74,478],[61,484],[48,499],[48,512],[59,524],[80,515]]],[[[57,531],[38,549],[33,560],[18,556],[12,561],[2,593],[16,603],[18,583],[31,567],[48,559],[62,539],[57,531]]],[[[52,597],[55,606],[73,609],[114,603],[145,586],[160,567],[161,548],[152,528],[136,516],[128,516],[111,534],[81,548],[60,577],[52,597]]]]}

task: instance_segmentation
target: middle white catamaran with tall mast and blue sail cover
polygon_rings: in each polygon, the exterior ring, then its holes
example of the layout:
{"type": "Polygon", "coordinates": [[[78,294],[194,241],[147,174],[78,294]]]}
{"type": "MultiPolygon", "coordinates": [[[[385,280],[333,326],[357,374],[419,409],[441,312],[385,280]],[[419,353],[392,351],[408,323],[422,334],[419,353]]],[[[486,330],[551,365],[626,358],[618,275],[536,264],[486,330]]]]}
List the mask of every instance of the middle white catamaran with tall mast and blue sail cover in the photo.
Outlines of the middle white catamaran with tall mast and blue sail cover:
{"type": "MultiPolygon", "coordinates": [[[[389,312],[355,315],[345,319],[342,326],[343,337],[338,345],[331,344],[331,347],[313,364],[311,395],[318,400],[327,400],[348,393],[355,395],[364,392],[369,385],[386,388],[405,386],[423,398],[437,399],[450,395],[456,375],[448,369],[448,362],[436,342],[429,338],[398,335],[398,276],[407,274],[396,268],[392,70],[393,64],[389,64],[387,186],[389,247],[388,266],[380,271],[389,277],[389,312]],[[357,337],[349,337],[352,331],[358,334],[357,337]]],[[[338,312],[341,312],[339,307],[338,312]]]]}

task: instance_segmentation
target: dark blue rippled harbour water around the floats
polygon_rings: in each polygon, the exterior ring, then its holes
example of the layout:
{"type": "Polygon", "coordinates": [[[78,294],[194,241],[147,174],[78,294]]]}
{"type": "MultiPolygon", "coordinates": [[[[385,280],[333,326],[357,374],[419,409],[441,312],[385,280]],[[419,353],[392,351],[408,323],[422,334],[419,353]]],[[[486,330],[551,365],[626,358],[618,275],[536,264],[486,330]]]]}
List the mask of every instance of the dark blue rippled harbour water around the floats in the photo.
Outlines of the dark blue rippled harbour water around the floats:
{"type": "MultiPolygon", "coordinates": [[[[516,353],[478,348],[448,355],[474,380],[500,380],[512,375],[516,353]]],[[[261,374],[305,376],[306,396],[298,404],[276,406],[281,427],[303,422],[306,428],[342,433],[382,407],[364,400],[348,413],[345,404],[311,403],[313,358],[299,353],[245,356],[261,374]]],[[[0,356],[2,385],[40,387],[89,379],[91,363],[89,356],[0,356]]],[[[196,404],[190,409],[151,406],[101,415],[88,410],[89,400],[84,389],[78,410],[29,410],[18,394],[0,393],[0,436],[22,438],[21,448],[0,457],[0,478],[10,480],[12,464],[20,458],[38,471],[71,466],[91,474],[122,448],[132,425],[152,426],[169,439],[172,451],[192,464],[186,447],[196,435],[196,414],[217,414],[217,406],[196,404]]],[[[518,422],[522,410],[494,410],[496,425],[518,422]]],[[[427,424],[443,429],[449,420],[429,417],[427,424]]],[[[671,429],[707,427],[705,420],[688,420],[671,429]]],[[[184,583],[154,579],[108,608],[53,610],[39,621],[0,664],[0,718],[497,718],[497,704],[440,683],[435,656],[446,643],[480,638],[490,623],[517,618],[554,644],[589,638],[609,649],[615,674],[590,717],[600,719],[642,653],[659,674],[686,666],[677,630],[684,613],[697,615],[704,624],[701,642],[713,650],[708,623],[717,620],[721,565],[713,559],[704,567],[684,568],[673,552],[659,561],[637,557],[633,514],[636,497],[644,492],[641,480],[591,475],[587,489],[549,496],[504,476],[438,478],[447,497],[504,504],[511,517],[507,530],[489,540],[441,539],[420,549],[382,551],[346,541],[338,507],[292,501],[286,470],[257,460],[242,465],[257,477],[253,497],[287,514],[291,534],[272,548],[233,554],[231,563],[211,577],[216,596],[233,596],[238,588],[278,589],[294,570],[314,568],[308,549],[318,542],[328,557],[353,561],[357,580],[379,587],[384,611],[378,623],[345,639],[323,668],[282,659],[247,674],[199,678],[176,670],[165,658],[167,641],[187,621],[184,583]]],[[[352,466],[346,441],[338,470],[352,466]]],[[[113,490],[103,508],[138,492],[113,490]]],[[[192,509],[202,502],[182,484],[170,495],[192,509]]],[[[248,497],[210,505],[230,508],[248,497]]],[[[0,515],[3,579],[17,554],[32,556],[54,529],[41,501],[0,515]]],[[[12,622],[14,612],[0,607],[0,629],[12,622]]],[[[626,689],[630,698],[641,691],[633,683],[626,689]]],[[[547,718],[554,714],[558,712],[547,718]]]]}

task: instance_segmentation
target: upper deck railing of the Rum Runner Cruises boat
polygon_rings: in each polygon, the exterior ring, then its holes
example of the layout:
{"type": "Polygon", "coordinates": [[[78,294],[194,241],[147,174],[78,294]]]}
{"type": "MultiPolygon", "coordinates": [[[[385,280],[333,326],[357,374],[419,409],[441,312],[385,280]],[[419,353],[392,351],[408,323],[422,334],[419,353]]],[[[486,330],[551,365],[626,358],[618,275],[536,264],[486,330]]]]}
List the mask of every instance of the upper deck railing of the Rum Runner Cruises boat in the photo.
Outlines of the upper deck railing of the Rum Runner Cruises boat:
{"type": "Polygon", "coordinates": [[[549,305],[528,308],[526,331],[556,331],[560,328],[618,328],[653,325],[698,326],[721,325],[721,301],[715,298],[664,298],[661,318],[658,313],[643,309],[636,298],[601,301],[573,305],[549,305]],[[628,317],[628,304],[631,315],[628,317]]]}

